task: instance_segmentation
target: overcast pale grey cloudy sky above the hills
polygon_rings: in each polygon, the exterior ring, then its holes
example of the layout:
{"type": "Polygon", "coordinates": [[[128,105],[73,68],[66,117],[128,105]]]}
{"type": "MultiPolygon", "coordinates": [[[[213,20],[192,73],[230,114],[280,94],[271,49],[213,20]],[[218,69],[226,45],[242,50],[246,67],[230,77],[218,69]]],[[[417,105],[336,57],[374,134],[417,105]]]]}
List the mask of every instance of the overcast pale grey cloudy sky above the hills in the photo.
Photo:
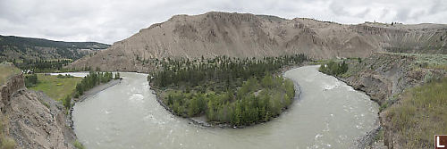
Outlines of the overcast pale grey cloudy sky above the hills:
{"type": "Polygon", "coordinates": [[[175,14],[447,24],[447,0],[0,0],[0,35],[113,44],[175,14]]]}

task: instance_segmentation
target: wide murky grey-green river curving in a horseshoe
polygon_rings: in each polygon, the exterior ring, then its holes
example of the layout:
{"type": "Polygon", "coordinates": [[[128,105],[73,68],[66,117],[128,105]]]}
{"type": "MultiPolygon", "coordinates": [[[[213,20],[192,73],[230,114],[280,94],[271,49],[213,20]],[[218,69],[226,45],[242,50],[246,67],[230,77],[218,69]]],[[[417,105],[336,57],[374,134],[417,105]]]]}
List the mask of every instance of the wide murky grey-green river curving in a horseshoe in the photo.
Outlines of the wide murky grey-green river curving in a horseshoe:
{"type": "Polygon", "coordinates": [[[378,106],[342,81],[305,66],[285,72],[301,87],[291,108],[249,128],[203,128],[156,102],[147,75],[76,103],[74,131],[87,148],[351,148],[375,128],[378,106]]]}

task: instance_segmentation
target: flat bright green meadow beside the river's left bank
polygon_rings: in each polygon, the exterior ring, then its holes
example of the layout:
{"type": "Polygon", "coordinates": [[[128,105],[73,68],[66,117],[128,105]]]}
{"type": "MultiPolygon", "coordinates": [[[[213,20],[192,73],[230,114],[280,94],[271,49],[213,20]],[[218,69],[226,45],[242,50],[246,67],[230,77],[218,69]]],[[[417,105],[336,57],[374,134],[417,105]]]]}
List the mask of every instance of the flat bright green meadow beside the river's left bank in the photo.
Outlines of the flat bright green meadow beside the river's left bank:
{"type": "Polygon", "coordinates": [[[67,95],[71,95],[82,78],[57,78],[57,76],[46,76],[38,74],[38,84],[30,87],[32,90],[42,91],[55,100],[62,100],[67,95]]]}

